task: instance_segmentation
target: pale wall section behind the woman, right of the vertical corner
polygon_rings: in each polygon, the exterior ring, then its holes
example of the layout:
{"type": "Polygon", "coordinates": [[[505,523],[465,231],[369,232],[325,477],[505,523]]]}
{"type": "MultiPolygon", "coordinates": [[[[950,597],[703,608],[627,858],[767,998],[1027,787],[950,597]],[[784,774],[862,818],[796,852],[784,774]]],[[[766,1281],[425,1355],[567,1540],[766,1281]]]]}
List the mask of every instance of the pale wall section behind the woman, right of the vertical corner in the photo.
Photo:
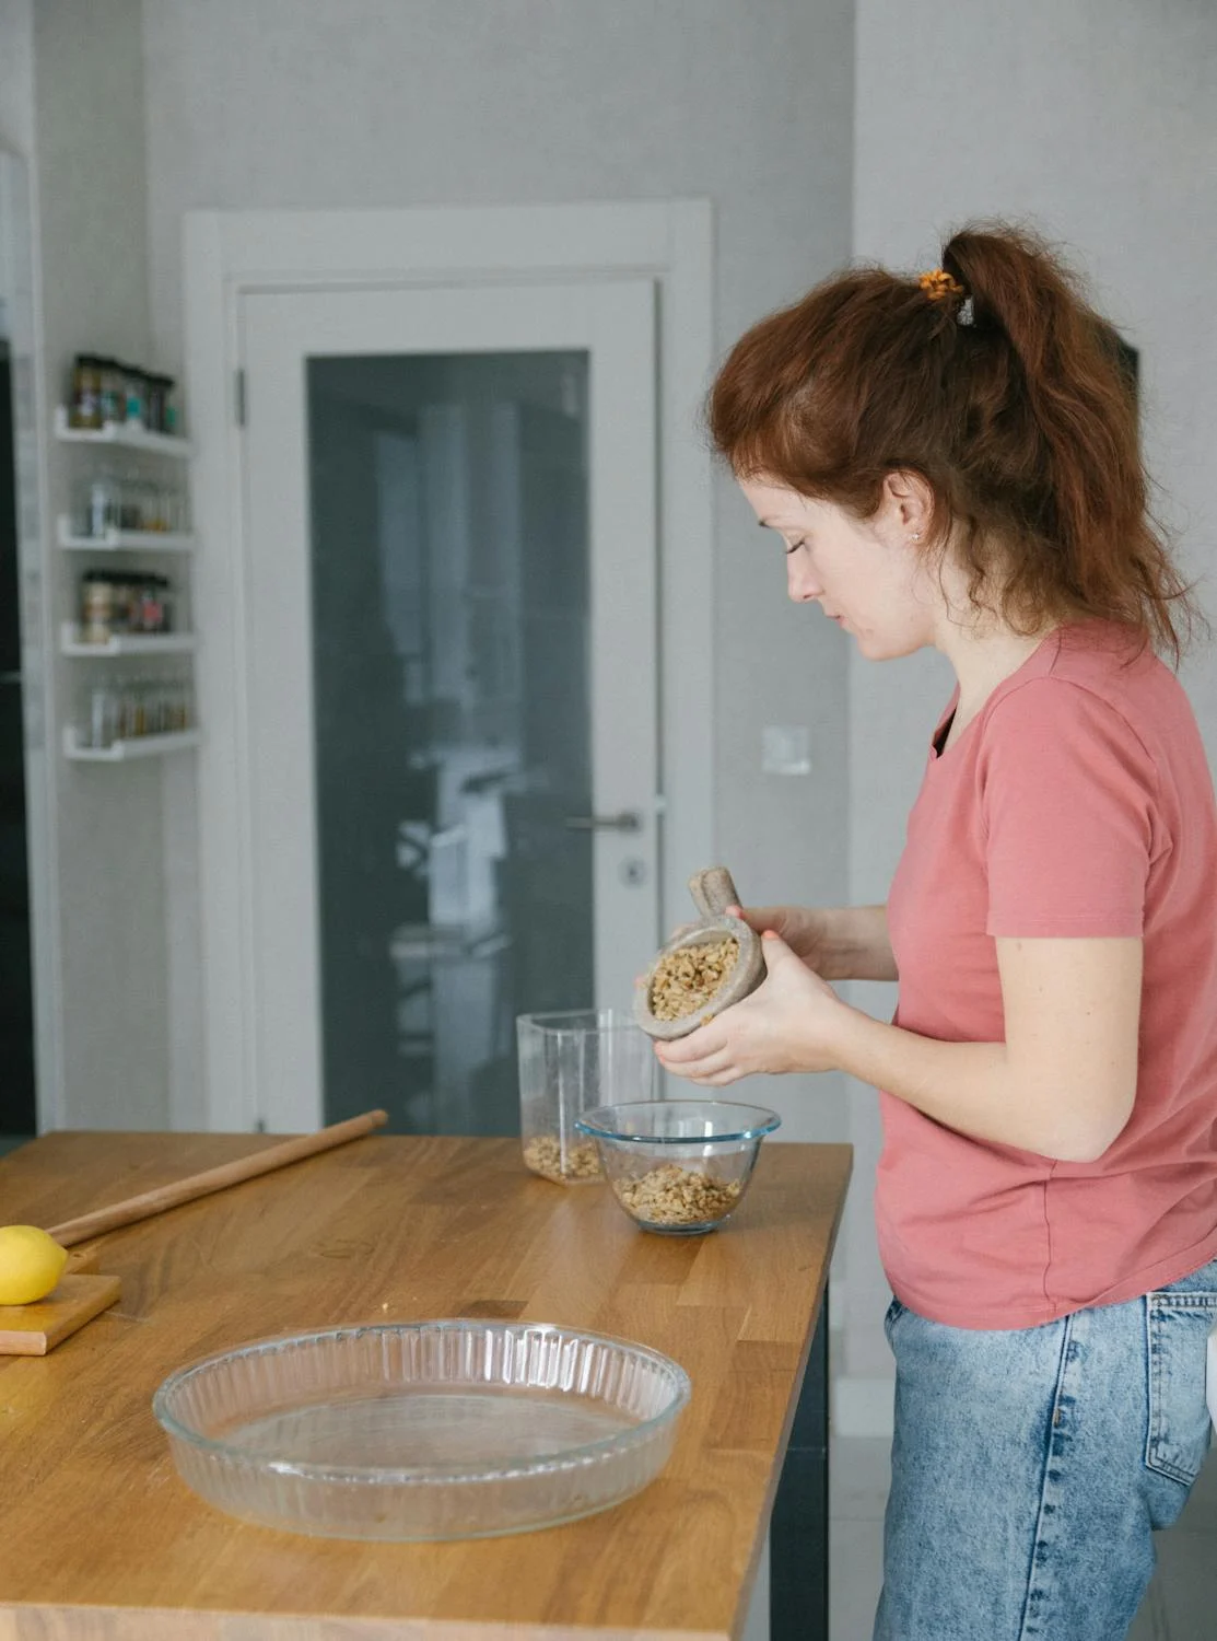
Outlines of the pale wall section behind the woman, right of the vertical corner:
{"type": "MultiPolygon", "coordinates": [[[[969,0],[918,15],[915,28],[900,0],[858,3],[856,254],[932,267],[945,228],[996,213],[1033,218],[1069,245],[1142,351],[1146,458],[1192,574],[1212,561],[1217,523],[1214,84],[1217,11],[1196,0],[969,0]]],[[[1217,614],[1212,586],[1207,594],[1217,614]]],[[[1197,653],[1184,678],[1212,757],[1214,650],[1197,653]]],[[[937,658],[882,668],[851,660],[858,898],[884,894],[948,688],[937,658]]],[[[887,1288],[861,1188],[877,1122],[863,1090],[851,1121],[846,1365],[866,1380],[886,1374],[889,1359],[879,1326],[887,1288]]]]}

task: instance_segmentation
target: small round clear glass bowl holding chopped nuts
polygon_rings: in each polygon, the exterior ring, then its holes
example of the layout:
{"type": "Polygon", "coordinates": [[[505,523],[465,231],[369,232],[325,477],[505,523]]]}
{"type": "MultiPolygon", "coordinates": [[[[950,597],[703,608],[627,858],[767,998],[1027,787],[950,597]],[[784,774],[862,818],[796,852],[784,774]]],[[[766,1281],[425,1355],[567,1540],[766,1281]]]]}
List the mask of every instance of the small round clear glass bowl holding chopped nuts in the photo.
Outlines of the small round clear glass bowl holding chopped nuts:
{"type": "Polygon", "coordinates": [[[700,1236],[743,1201],[766,1134],[781,1118],[730,1099],[600,1106],[576,1121],[595,1140],[613,1196],[643,1231],[700,1236]]]}

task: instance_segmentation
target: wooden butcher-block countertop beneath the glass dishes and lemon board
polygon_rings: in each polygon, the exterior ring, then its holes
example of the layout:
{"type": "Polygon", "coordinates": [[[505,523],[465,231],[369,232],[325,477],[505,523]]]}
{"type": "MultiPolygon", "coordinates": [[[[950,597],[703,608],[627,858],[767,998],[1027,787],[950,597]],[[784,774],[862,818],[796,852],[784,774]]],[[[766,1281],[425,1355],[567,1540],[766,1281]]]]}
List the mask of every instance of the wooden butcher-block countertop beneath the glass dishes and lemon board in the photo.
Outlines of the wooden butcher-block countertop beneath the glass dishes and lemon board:
{"type": "MultiPolygon", "coordinates": [[[[51,1134],[0,1160],[0,1221],[54,1224],[269,1145],[51,1134]]],[[[736,1636],[845,1201],[848,1145],[761,1149],[723,1231],[638,1231],[513,1140],[369,1137],[100,1239],[113,1311],[0,1357],[0,1641],[668,1641],[736,1636]],[[672,1457],[615,1510],[454,1544],[244,1526],[180,1482],[151,1396],[175,1367],[358,1321],[523,1318],[692,1377],[672,1457]]]]}

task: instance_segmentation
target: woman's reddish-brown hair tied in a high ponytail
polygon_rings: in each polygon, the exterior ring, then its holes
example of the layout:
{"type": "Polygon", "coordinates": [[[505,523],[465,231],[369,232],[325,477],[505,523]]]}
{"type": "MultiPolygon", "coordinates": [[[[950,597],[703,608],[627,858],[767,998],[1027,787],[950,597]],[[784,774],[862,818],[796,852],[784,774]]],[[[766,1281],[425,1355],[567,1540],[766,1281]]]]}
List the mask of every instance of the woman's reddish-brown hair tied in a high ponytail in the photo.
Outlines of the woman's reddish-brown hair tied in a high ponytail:
{"type": "Polygon", "coordinates": [[[1119,338],[1037,235],[974,223],[933,289],[879,267],[817,286],[754,325],[707,402],[715,448],[869,519],[889,473],[933,497],[974,606],[1015,632],[1097,617],[1178,665],[1202,624],[1148,509],[1119,338]]]}

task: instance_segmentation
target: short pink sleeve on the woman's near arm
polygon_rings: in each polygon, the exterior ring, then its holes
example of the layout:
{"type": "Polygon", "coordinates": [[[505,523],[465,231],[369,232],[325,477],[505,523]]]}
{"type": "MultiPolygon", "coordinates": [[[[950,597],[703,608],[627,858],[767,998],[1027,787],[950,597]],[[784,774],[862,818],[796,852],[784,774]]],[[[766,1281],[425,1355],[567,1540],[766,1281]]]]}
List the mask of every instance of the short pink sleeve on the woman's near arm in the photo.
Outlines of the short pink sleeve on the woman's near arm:
{"type": "Polygon", "coordinates": [[[1140,935],[1158,773],[1127,719],[1037,678],[997,702],[978,758],[997,937],[1140,935]]]}

